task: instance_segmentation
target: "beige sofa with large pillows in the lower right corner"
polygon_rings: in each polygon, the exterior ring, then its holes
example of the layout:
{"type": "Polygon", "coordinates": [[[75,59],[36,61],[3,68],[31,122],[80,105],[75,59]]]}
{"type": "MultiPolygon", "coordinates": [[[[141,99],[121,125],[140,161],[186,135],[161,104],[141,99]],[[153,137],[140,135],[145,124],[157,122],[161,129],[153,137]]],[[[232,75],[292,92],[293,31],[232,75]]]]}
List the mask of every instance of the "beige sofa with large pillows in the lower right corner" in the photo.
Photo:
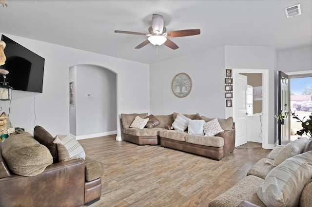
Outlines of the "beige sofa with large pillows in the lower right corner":
{"type": "Polygon", "coordinates": [[[254,164],[246,177],[212,200],[209,207],[311,207],[311,150],[312,140],[303,147],[293,147],[293,143],[276,146],[254,164]]]}

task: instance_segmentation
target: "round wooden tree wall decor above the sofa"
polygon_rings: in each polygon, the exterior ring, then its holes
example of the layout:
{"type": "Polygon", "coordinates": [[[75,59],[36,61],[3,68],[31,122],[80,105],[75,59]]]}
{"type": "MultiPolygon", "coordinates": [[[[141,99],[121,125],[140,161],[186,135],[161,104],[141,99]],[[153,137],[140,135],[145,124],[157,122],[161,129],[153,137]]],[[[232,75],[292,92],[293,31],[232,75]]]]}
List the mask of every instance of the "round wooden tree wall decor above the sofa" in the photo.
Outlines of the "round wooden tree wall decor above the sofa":
{"type": "Polygon", "coordinates": [[[176,97],[186,97],[192,90],[192,79],[188,74],[181,72],[172,80],[171,89],[176,97]]]}

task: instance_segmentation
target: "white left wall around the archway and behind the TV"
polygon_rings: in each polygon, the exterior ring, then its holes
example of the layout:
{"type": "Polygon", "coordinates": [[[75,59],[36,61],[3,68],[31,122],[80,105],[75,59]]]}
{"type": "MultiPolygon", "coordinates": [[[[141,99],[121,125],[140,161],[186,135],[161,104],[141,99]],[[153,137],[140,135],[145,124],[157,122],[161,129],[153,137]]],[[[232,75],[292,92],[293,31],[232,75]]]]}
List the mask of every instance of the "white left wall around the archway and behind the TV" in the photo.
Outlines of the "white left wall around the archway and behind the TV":
{"type": "MultiPolygon", "coordinates": [[[[1,35],[1,34],[0,34],[1,35]]],[[[149,112],[149,66],[92,52],[7,35],[22,46],[45,58],[43,92],[13,91],[10,120],[15,127],[24,127],[33,133],[36,124],[52,136],[69,134],[69,72],[71,66],[97,65],[117,74],[117,113],[149,112]],[[122,102],[120,101],[122,98],[122,102]]],[[[103,46],[104,47],[104,46],[103,46]]],[[[9,102],[1,101],[3,111],[9,111],[9,102]]],[[[120,136],[117,121],[117,137],[120,136]]]]}

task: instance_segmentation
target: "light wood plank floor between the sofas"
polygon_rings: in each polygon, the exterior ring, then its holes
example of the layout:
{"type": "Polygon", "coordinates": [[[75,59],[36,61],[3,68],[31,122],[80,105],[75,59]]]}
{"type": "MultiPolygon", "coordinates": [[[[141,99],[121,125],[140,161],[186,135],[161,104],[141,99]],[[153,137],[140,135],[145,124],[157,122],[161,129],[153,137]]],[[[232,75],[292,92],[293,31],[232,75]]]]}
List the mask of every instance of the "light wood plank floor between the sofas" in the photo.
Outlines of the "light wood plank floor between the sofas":
{"type": "Polygon", "coordinates": [[[160,145],[116,141],[116,135],[79,143],[104,164],[102,195],[92,207],[207,207],[271,151],[237,148],[215,161],[160,145]]]}

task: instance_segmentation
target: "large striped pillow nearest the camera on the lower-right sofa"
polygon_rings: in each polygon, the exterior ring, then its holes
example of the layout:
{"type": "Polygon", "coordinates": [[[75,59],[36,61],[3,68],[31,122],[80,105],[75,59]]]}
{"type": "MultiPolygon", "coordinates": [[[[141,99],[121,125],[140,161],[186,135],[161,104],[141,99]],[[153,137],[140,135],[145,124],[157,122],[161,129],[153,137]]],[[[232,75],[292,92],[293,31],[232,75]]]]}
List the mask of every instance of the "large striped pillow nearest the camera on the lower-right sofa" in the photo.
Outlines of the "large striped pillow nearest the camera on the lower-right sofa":
{"type": "Polygon", "coordinates": [[[267,174],[256,192],[266,206],[298,206],[312,177],[312,151],[286,159],[267,174]]]}

